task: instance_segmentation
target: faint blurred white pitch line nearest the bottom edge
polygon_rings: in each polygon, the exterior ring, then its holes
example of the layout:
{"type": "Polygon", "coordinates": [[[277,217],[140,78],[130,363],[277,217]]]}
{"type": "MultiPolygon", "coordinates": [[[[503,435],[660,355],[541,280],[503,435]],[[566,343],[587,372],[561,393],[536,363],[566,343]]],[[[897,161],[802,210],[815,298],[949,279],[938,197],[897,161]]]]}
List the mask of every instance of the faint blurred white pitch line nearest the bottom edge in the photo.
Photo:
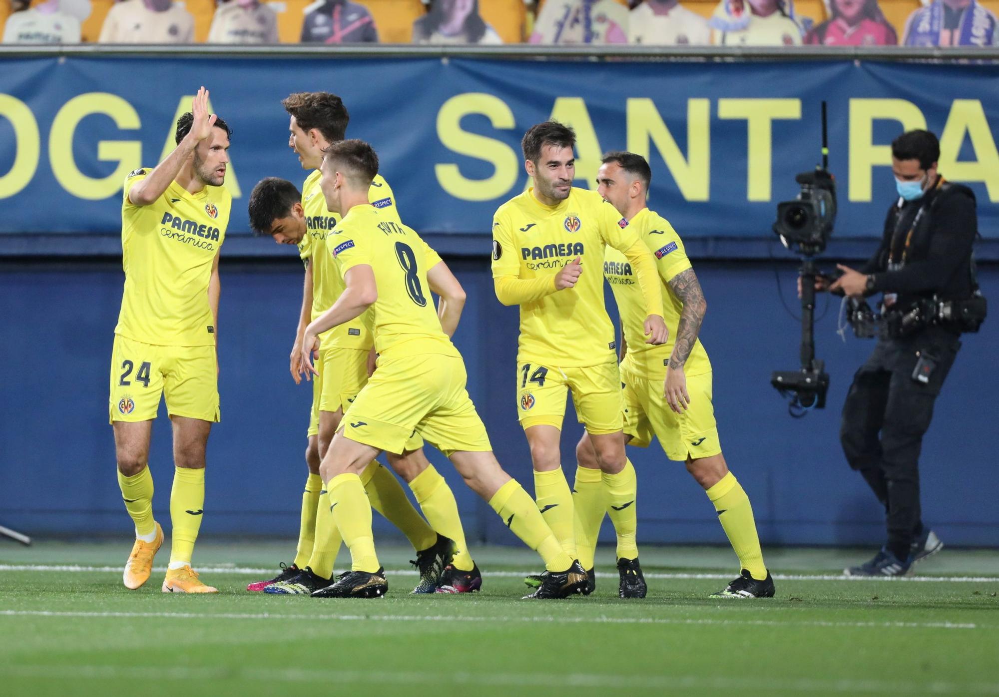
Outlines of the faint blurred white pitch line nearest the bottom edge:
{"type": "MultiPolygon", "coordinates": [[[[468,673],[448,671],[359,671],[359,670],[316,670],[309,668],[232,668],[230,666],[185,667],[175,666],[51,666],[51,665],[12,665],[0,666],[0,675],[28,678],[31,680],[175,680],[205,681],[233,680],[271,683],[320,683],[323,685],[372,684],[391,685],[435,685],[445,683],[473,688],[510,687],[535,690],[537,688],[618,688],[622,676],[599,673],[468,673]]],[[[713,691],[753,691],[802,693],[875,693],[884,694],[938,694],[969,695],[999,694],[999,683],[972,682],[959,683],[946,680],[913,682],[910,680],[888,681],[876,679],[823,679],[823,678],[777,678],[777,677],[736,677],[705,675],[637,675],[627,678],[631,690],[713,690],[713,691]]]]}

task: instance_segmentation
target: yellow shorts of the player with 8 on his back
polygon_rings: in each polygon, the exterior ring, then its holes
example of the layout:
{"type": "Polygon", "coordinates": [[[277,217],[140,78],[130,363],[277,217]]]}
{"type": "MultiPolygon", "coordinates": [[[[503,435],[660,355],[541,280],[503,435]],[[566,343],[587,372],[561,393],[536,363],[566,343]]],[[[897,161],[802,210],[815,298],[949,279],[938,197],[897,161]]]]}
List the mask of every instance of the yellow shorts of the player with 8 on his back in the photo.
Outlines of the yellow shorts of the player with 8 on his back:
{"type": "Polygon", "coordinates": [[[344,414],[344,435],[394,453],[417,449],[420,436],[448,456],[459,450],[490,451],[467,380],[458,355],[383,355],[344,414]]]}

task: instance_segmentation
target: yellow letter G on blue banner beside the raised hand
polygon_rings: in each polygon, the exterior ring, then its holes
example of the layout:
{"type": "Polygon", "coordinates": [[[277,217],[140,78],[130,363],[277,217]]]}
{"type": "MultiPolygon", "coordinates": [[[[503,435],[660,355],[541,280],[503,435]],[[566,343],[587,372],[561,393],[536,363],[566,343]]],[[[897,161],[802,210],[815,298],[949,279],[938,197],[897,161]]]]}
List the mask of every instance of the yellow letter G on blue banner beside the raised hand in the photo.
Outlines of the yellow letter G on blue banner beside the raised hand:
{"type": "Polygon", "coordinates": [[[125,175],[142,164],[142,143],[100,141],[97,144],[97,159],[102,162],[117,162],[118,166],[107,177],[88,177],[80,171],[73,158],[73,141],[77,126],[92,114],[110,117],[119,129],[137,129],[141,124],[139,114],[131,104],[118,95],[107,92],[88,92],[74,97],[56,114],[49,132],[52,173],[62,188],[78,199],[99,201],[120,191],[125,175]]]}

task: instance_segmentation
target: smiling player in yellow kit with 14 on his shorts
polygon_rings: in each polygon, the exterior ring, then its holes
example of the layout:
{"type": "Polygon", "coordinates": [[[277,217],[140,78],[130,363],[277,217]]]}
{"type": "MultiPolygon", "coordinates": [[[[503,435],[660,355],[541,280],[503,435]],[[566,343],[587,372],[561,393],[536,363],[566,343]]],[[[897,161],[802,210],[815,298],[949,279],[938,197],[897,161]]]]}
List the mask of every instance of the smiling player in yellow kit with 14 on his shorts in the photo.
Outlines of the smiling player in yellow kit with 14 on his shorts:
{"type": "MultiPolygon", "coordinates": [[[[524,135],[524,167],[533,186],[496,213],[493,280],[500,303],[520,306],[517,413],[530,446],[537,506],[575,557],[573,509],[578,503],[569,492],[558,449],[566,391],[571,390],[599,464],[594,483],[602,487],[617,531],[619,593],[644,597],[635,543],[637,482],[621,439],[614,329],[603,305],[604,247],[619,250],[635,270],[644,341],[653,345],[666,341],[662,298],[648,249],[599,194],[572,187],[574,144],[572,129],[554,121],[537,124],[524,135]]],[[[597,503],[602,511],[602,499],[597,503]]],[[[592,566],[586,570],[592,584],[592,566]]],[[[528,576],[526,582],[541,580],[528,576]]]]}

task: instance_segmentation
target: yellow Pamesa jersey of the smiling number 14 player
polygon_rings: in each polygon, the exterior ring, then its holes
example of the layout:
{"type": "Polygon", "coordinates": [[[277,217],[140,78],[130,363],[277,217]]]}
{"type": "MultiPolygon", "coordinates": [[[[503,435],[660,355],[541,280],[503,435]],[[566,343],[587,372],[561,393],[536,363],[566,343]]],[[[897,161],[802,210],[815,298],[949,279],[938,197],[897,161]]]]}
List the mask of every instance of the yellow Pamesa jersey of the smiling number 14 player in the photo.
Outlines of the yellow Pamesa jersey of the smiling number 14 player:
{"type": "Polygon", "coordinates": [[[533,191],[496,212],[493,278],[551,277],[576,257],[582,274],[575,287],[520,305],[516,360],[554,367],[615,360],[614,328],[603,305],[603,248],[623,252],[638,237],[596,192],[573,187],[567,199],[545,206],[533,191]]]}

